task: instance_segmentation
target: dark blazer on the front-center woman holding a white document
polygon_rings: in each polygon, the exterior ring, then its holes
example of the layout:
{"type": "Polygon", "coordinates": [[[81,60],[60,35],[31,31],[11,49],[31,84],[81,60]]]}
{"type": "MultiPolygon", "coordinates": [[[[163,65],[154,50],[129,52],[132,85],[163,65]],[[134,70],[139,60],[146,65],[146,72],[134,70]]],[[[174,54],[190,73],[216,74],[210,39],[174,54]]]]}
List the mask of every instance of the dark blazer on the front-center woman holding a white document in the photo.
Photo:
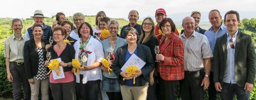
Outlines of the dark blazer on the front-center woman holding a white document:
{"type": "MultiPolygon", "coordinates": [[[[113,71],[115,72],[116,76],[118,77],[118,83],[120,83],[121,85],[124,84],[125,81],[122,80],[122,76],[120,75],[120,73],[122,72],[121,68],[122,66],[125,64],[125,57],[126,57],[126,52],[128,48],[128,44],[119,47],[116,51],[116,59],[112,65],[113,67],[113,71]]],[[[149,49],[149,47],[142,45],[142,44],[138,44],[137,45],[137,56],[139,58],[141,58],[143,61],[146,62],[146,64],[144,65],[144,67],[141,69],[142,75],[138,76],[135,79],[135,86],[145,86],[148,85],[148,75],[150,74],[150,72],[153,71],[154,69],[154,61],[153,58],[151,56],[151,51],[149,49]]]]}

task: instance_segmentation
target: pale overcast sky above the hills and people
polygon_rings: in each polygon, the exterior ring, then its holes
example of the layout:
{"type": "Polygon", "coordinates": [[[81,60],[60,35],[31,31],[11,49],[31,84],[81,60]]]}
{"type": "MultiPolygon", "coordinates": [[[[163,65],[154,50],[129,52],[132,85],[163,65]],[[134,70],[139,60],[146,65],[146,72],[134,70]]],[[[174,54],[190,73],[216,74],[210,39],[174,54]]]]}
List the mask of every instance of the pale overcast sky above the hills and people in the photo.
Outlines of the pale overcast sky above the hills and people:
{"type": "Polygon", "coordinates": [[[96,15],[105,11],[107,17],[128,18],[131,10],[137,10],[140,17],[154,16],[158,8],[166,14],[192,11],[256,11],[256,0],[1,0],[0,17],[29,18],[35,10],[42,10],[51,17],[57,12],[73,16],[76,12],[96,15]]]}

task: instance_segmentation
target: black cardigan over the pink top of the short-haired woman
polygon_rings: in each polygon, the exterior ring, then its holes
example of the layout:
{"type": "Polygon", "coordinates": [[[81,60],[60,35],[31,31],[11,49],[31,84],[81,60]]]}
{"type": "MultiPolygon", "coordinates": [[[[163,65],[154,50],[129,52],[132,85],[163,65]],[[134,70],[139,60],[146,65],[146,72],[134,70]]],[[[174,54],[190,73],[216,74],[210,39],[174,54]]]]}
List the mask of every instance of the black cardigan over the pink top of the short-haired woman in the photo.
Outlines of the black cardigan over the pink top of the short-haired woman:
{"type": "MultiPolygon", "coordinates": [[[[72,62],[75,59],[75,49],[72,45],[67,44],[66,48],[62,51],[61,55],[58,56],[54,51],[53,46],[49,47],[49,52],[52,53],[51,59],[61,58],[64,63],[72,62]]],[[[63,67],[64,72],[71,71],[73,67],[63,67]]]]}

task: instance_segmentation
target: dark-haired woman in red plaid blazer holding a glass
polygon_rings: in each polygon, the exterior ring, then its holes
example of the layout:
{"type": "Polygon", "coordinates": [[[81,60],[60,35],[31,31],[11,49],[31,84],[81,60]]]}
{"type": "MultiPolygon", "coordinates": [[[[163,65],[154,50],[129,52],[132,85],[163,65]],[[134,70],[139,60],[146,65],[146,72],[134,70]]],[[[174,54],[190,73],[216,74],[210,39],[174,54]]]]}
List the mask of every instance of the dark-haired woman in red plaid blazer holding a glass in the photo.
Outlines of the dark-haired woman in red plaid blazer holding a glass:
{"type": "Polygon", "coordinates": [[[170,18],[160,22],[160,30],[164,36],[160,40],[160,53],[156,59],[157,72],[160,74],[160,89],[163,100],[175,100],[179,80],[184,78],[183,42],[175,32],[175,24],[170,18]]]}

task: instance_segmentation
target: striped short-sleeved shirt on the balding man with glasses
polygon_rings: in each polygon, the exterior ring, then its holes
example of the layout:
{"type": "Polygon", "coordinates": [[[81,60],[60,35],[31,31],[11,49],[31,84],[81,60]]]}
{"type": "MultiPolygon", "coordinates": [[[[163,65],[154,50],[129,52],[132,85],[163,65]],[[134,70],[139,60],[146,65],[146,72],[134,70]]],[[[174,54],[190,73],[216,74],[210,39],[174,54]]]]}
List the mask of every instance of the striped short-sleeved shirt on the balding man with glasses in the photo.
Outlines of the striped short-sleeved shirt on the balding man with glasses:
{"type": "Polygon", "coordinates": [[[194,72],[203,69],[204,58],[213,57],[207,37],[194,31],[189,38],[184,33],[180,38],[184,45],[184,70],[194,72]]]}

